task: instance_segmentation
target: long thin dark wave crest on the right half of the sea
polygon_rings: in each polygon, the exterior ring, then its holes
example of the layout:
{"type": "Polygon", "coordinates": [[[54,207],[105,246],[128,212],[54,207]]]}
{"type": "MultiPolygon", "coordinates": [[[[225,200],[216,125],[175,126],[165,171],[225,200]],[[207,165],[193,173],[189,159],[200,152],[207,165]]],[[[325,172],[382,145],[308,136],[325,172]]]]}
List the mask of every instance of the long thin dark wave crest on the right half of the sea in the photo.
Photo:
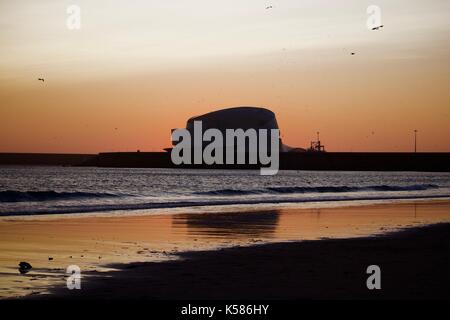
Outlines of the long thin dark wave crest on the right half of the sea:
{"type": "Polygon", "coordinates": [[[250,194],[270,194],[270,193],[344,193],[344,192],[367,192],[367,191],[423,191],[430,189],[438,189],[439,186],[434,184],[415,184],[408,186],[389,186],[389,185],[377,185],[377,186],[330,186],[330,187],[269,187],[258,190],[240,190],[240,189],[222,189],[211,190],[205,192],[195,192],[197,195],[210,195],[210,196],[240,196],[250,194]]]}

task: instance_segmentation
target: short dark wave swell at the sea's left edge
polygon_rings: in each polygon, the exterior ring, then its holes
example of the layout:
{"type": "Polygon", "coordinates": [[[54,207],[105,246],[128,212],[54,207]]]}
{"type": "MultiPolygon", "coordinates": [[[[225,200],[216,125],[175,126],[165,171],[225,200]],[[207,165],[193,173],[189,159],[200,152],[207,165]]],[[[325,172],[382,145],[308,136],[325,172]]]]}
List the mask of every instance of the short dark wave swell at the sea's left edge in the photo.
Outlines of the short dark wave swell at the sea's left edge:
{"type": "Polygon", "coordinates": [[[52,200],[76,200],[87,198],[110,198],[118,195],[99,192],[57,192],[49,191],[0,191],[0,202],[37,202],[52,200]]]}

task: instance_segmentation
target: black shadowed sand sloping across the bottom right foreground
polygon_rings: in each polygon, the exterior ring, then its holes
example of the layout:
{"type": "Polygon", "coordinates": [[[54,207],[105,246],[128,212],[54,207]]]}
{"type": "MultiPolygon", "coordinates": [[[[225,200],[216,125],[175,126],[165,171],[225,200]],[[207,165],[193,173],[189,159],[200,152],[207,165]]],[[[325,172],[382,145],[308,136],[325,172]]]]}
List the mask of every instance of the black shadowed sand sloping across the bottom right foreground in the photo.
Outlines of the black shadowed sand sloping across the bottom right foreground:
{"type": "Polygon", "coordinates": [[[63,299],[449,299],[450,223],[377,237],[264,244],[119,266],[63,299]],[[381,290],[366,268],[381,267],[381,290]]]}

